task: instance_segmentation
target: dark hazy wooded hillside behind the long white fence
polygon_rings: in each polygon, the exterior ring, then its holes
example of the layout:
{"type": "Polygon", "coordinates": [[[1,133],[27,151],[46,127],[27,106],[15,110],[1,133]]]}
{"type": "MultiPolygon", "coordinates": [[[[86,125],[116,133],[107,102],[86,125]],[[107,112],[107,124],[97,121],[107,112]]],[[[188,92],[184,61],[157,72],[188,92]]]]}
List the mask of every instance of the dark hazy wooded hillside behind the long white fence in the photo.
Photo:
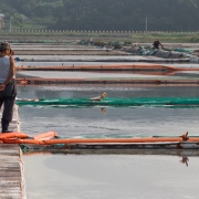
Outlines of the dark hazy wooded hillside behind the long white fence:
{"type": "Polygon", "coordinates": [[[7,30],[199,31],[198,0],[0,0],[0,13],[7,30]]]}

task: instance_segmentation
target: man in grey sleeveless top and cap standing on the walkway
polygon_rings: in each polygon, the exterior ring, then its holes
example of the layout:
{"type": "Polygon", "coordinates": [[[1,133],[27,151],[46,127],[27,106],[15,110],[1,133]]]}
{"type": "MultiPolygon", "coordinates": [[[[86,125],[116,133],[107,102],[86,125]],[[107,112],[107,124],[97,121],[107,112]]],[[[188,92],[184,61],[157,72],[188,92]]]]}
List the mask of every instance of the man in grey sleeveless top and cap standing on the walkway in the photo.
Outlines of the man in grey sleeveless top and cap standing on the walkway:
{"type": "Polygon", "coordinates": [[[0,43],[0,109],[2,104],[4,104],[1,118],[2,133],[11,133],[9,124],[12,121],[17,96],[13,54],[10,43],[0,43]]]}

